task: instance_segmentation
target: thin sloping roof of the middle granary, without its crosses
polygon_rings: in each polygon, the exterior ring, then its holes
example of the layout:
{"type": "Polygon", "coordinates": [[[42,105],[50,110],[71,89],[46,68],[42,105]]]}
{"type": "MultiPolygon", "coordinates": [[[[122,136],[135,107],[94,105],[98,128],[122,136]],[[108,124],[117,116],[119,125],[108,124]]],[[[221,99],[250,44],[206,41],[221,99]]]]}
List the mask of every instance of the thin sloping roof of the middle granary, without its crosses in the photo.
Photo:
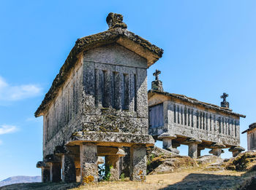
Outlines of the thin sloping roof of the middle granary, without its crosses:
{"type": "Polygon", "coordinates": [[[201,102],[201,101],[199,101],[195,98],[189,98],[186,95],[178,95],[178,94],[173,94],[173,93],[169,93],[169,92],[161,92],[159,90],[148,90],[148,99],[151,98],[155,94],[165,95],[165,96],[168,96],[168,97],[171,97],[171,98],[179,99],[179,100],[187,102],[187,103],[192,103],[192,104],[197,105],[197,106],[203,106],[205,108],[209,108],[209,109],[212,109],[212,110],[222,111],[225,114],[232,114],[232,115],[241,116],[241,117],[244,117],[244,118],[246,117],[242,114],[236,114],[230,108],[223,108],[223,107],[211,104],[211,103],[201,102]]]}

